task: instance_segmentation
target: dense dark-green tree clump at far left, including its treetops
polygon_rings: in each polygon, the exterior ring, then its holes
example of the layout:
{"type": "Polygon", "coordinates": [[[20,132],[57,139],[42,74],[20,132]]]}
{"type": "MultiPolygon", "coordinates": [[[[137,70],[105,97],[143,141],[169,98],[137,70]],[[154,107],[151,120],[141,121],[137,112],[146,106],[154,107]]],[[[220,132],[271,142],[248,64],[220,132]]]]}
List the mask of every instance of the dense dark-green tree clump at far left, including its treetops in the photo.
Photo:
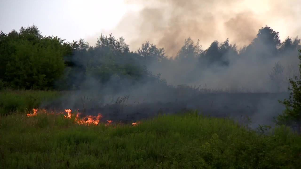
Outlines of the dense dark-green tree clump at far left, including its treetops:
{"type": "Polygon", "coordinates": [[[0,80],[14,89],[51,89],[63,75],[64,56],[70,52],[64,40],[44,37],[34,25],[1,32],[0,80]]]}

